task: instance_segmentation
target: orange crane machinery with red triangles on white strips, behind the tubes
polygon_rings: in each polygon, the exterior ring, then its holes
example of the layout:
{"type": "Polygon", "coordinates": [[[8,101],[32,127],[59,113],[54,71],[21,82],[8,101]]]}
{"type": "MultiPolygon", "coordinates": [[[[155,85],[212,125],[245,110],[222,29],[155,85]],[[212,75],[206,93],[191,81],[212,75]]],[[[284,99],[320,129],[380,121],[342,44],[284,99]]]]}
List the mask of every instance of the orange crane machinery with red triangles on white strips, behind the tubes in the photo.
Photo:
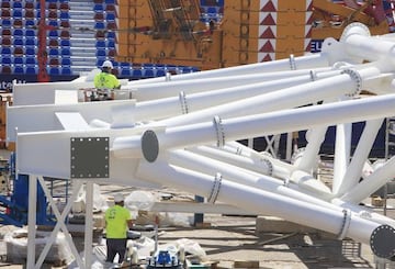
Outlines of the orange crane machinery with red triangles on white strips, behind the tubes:
{"type": "Polygon", "coordinates": [[[372,34],[392,32],[393,4],[390,0],[121,0],[115,59],[142,68],[151,64],[206,70],[301,56],[318,52],[327,37],[340,38],[352,22],[365,24],[372,34]]]}

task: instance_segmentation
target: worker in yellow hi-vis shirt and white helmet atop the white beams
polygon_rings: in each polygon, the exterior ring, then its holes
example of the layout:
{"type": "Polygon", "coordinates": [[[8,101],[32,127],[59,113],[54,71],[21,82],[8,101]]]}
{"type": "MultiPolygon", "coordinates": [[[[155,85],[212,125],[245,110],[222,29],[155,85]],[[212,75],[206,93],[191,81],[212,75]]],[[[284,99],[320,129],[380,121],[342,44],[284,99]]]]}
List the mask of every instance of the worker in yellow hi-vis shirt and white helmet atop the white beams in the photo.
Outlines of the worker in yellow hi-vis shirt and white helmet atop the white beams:
{"type": "MultiPolygon", "coordinates": [[[[111,60],[104,60],[101,66],[102,71],[94,76],[94,88],[98,90],[99,96],[102,97],[102,100],[112,100],[112,91],[121,88],[119,79],[111,72],[113,64],[111,60]]],[[[98,97],[93,97],[98,98],[98,97]]],[[[98,101],[98,100],[92,100],[98,101]]]]}

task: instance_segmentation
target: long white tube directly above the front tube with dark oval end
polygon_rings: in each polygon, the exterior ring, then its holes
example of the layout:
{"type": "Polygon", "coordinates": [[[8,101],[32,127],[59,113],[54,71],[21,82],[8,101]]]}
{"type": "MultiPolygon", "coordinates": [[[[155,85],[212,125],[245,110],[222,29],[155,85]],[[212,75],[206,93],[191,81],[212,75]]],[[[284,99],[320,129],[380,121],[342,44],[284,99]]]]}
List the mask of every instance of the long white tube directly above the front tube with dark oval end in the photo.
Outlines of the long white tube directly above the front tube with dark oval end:
{"type": "MultiPolygon", "coordinates": [[[[377,68],[366,68],[359,71],[361,79],[380,75],[377,68]]],[[[176,126],[207,121],[213,115],[223,117],[241,116],[262,113],[273,110],[295,108],[320,100],[332,99],[357,91],[357,82],[347,74],[325,78],[309,83],[290,87],[270,93],[216,105],[211,109],[200,110],[185,115],[173,116],[159,122],[161,125],[176,126]]],[[[252,136],[251,136],[252,137],[252,136]]]]}

